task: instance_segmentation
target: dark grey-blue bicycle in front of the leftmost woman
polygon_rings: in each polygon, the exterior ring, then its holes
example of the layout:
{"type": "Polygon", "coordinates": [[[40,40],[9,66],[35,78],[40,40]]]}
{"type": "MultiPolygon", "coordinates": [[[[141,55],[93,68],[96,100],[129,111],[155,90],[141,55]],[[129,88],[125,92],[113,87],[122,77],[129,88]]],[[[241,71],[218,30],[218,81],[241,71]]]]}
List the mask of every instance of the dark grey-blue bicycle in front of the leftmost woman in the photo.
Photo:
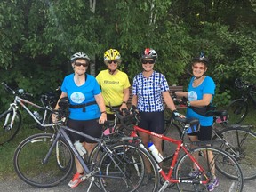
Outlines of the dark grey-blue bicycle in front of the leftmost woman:
{"type": "MultiPolygon", "coordinates": [[[[97,188],[104,191],[157,191],[159,173],[156,163],[139,138],[122,137],[115,143],[93,138],[83,132],[77,132],[60,125],[56,133],[38,133],[20,142],[14,152],[14,169],[21,180],[36,187],[52,187],[65,180],[72,172],[74,156],[84,168],[82,180],[90,180],[97,188]],[[68,137],[68,132],[75,132],[97,143],[97,152],[90,156],[80,156],[68,137]],[[130,142],[132,140],[132,142],[130,142]],[[56,163],[56,145],[65,149],[65,166],[56,163]],[[89,160],[90,159],[90,160],[89,160]],[[154,181],[147,186],[147,160],[152,170],[154,181]]],[[[63,164],[64,165],[64,164],[63,164]]]]}

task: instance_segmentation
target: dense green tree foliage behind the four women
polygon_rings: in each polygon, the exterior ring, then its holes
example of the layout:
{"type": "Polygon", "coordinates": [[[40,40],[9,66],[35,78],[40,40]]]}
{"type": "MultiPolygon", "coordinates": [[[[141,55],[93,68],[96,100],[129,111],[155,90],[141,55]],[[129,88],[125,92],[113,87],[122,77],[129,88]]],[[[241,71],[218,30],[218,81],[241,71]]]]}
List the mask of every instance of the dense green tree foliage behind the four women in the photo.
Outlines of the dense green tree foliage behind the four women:
{"type": "Polygon", "coordinates": [[[3,0],[0,12],[0,81],[37,96],[72,72],[71,54],[86,52],[98,73],[109,48],[121,52],[131,83],[146,47],[158,53],[155,68],[169,84],[184,86],[191,58],[204,51],[212,63],[207,75],[220,85],[217,99],[234,95],[237,76],[256,81],[252,1],[97,0],[93,13],[82,0],[3,0]]]}

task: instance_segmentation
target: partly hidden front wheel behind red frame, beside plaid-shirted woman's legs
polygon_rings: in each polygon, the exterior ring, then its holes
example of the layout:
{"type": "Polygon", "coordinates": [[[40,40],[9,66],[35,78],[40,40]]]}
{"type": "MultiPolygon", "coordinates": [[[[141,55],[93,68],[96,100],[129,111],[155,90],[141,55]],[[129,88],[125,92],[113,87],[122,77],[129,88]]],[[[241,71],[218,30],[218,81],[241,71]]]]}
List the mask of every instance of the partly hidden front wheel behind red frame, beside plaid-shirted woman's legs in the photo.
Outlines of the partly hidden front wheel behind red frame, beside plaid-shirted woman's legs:
{"type": "MultiPolygon", "coordinates": [[[[173,139],[179,140],[181,135],[180,127],[177,124],[174,124],[169,121],[165,121],[165,132],[164,136],[172,137],[173,139]]],[[[173,145],[172,142],[168,142],[166,140],[162,141],[162,150],[164,161],[172,158],[176,149],[176,145],[173,145]]]]}

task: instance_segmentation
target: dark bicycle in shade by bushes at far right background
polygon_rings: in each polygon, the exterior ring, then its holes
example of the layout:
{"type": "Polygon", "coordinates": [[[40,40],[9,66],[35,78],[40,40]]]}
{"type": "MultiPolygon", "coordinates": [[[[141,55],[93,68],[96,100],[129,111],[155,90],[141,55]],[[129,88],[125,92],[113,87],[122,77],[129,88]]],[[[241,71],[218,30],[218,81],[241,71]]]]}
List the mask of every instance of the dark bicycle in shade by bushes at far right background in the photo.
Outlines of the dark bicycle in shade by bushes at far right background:
{"type": "Polygon", "coordinates": [[[227,107],[229,124],[240,124],[244,121],[249,112],[248,100],[251,99],[256,107],[256,84],[245,82],[241,78],[236,78],[235,84],[243,94],[240,99],[233,100],[227,107]]]}

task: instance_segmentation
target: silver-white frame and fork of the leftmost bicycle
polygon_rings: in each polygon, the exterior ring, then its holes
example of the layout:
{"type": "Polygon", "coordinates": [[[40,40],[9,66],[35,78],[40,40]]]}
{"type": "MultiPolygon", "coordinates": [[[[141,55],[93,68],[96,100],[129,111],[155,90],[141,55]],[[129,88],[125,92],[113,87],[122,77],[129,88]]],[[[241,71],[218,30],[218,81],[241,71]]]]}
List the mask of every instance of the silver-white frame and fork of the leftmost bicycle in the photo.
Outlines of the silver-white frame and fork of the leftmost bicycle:
{"type": "MultiPolygon", "coordinates": [[[[42,106],[39,106],[39,105],[36,105],[35,103],[31,102],[31,101],[28,101],[28,100],[25,100],[25,99],[22,99],[20,98],[19,96],[15,96],[15,99],[14,101],[10,104],[10,107],[8,108],[8,110],[12,110],[13,111],[13,116],[12,116],[12,121],[11,121],[11,126],[10,126],[10,129],[12,129],[12,125],[14,123],[14,119],[16,117],[16,114],[17,114],[17,110],[19,108],[18,104],[20,104],[20,106],[22,108],[25,108],[25,110],[28,112],[28,114],[30,116],[32,116],[32,118],[36,121],[37,124],[39,124],[40,126],[43,126],[43,127],[50,127],[52,125],[60,125],[61,124],[61,121],[58,121],[57,123],[52,123],[52,124],[45,124],[45,120],[46,120],[46,116],[48,115],[48,112],[52,112],[52,109],[51,108],[48,108],[47,106],[46,107],[42,107],[42,106]],[[44,110],[44,117],[43,117],[43,120],[42,120],[42,123],[36,118],[36,116],[34,116],[34,114],[32,113],[32,111],[25,105],[25,104],[28,104],[30,106],[33,106],[34,108],[39,108],[39,109],[43,109],[44,110]]],[[[4,121],[4,126],[8,123],[9,121],[9,118],[10,118],[10,114],[8,114],[5,118],[5,121],[4,121]]]]}

